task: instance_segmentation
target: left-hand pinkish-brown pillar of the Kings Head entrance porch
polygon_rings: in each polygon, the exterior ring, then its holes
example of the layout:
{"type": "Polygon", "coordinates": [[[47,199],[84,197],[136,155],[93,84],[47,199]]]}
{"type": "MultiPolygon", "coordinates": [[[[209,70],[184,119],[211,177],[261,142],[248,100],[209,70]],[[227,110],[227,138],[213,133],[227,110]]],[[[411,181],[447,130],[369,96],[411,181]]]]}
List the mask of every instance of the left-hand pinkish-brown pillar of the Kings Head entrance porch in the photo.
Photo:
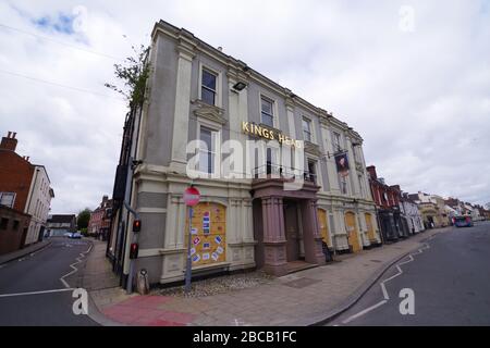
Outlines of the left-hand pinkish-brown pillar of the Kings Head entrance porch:
{"type": "Polygon", "coordinates": [[[262,223],[264,269],[274,275],[287,274],[282,198],[262,198],[262,223]]]}

